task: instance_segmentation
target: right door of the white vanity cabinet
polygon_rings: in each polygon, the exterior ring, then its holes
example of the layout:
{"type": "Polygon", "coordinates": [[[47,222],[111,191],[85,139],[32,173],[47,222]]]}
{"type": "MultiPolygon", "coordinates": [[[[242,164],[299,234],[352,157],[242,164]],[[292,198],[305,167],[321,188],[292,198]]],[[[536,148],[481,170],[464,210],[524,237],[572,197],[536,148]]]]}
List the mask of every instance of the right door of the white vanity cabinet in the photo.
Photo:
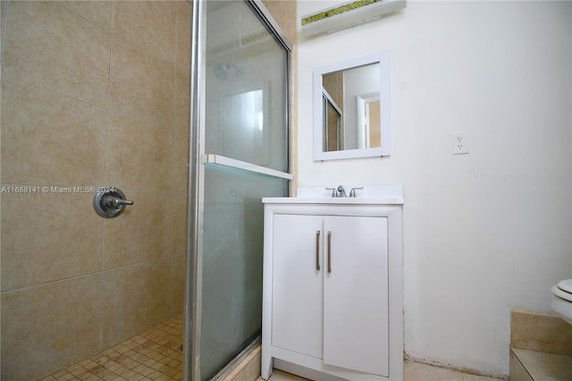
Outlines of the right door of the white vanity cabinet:
{"type": "Polygon", "coordinates": [[[324,218],[324,364],[389,375],[387,232],[385,217],[324,218]]]}

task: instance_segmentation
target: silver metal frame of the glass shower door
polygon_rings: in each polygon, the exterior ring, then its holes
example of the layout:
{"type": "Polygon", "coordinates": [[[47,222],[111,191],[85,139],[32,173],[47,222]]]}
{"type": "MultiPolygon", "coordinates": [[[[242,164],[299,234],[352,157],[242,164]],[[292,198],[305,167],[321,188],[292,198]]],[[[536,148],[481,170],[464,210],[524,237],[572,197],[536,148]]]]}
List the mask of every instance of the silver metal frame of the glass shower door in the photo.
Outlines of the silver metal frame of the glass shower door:
{"type": "MultiPolygon", "coordinates": [[[[212,163],[212,155],[205,152],[205,112],[206,112],[206,1],[194,0],[191,27],[191,64],[190,64],[190,133],[189,133],[189,210],[188,210],[188,260],[185,283],[185,321],[183,337],[183,380],[200,380],[200,343],[201,343],[201,295],[204,229],[204,189],[205,165],[212,163]]],[[[285,33],[274,21],[271,13],[260,0],[243,0],[249,5],[258,19],[273,34],[276,41],[286,50],[285,125],[288,126],[287,152],[288,173],[270,170],[273,175],[291,180],[290,174],[290,68],[291,44],[285,33]]],[[[232,163],[231,163],[232,165],[232,163]]],[[[238,164],[240,165],[240,163],[238,164]]],[[[239,166],[240,167],[240,166],[239,166]]],[[[242,168],[244,169],[244,168],[242,168]]],[[[268,174],[268,168],[260,167],[259,173],[268,174]]],[[[258,172],[249,166],[248,170],[258,172]]]]}

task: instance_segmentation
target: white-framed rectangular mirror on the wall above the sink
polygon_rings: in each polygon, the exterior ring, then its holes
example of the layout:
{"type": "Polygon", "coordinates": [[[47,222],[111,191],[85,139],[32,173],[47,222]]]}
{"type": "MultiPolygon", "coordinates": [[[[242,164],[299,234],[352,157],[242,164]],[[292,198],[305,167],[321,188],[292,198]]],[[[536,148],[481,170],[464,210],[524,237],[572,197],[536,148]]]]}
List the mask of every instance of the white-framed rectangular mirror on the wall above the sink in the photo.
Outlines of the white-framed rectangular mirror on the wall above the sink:
{"type": "Polygon", "coordinates": [[[391,154],[389,53],[314,72],[314,159],[391,154]]]}

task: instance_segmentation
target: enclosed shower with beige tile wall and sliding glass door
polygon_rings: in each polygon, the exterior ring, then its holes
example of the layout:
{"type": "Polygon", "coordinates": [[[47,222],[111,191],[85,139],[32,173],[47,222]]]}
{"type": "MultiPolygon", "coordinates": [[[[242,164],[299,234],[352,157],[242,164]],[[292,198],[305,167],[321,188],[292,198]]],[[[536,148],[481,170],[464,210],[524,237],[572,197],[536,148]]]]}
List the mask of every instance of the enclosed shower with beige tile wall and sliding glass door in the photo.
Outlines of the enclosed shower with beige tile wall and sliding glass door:
{"type": "Polygon", "coordinates": [[[114,348],[172,324],[140,349],[215,377],[260,332],[286,38],[258,1],[1,4],[0,377],[127,366],[114,348]],[[106,188],[133,205],[98,215],[106,188]]]}

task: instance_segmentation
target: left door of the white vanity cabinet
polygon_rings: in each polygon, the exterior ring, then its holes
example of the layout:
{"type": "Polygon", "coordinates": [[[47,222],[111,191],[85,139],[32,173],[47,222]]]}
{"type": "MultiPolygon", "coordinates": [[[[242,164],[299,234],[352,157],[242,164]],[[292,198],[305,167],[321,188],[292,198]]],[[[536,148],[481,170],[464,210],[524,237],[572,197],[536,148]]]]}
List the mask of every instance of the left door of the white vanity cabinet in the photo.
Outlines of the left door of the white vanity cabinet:
{"type": "Polygon", "coordinates": [[[272,344],[318,359],[323,343],[323,227],[324,216],[273,216],[272,344]]]}

